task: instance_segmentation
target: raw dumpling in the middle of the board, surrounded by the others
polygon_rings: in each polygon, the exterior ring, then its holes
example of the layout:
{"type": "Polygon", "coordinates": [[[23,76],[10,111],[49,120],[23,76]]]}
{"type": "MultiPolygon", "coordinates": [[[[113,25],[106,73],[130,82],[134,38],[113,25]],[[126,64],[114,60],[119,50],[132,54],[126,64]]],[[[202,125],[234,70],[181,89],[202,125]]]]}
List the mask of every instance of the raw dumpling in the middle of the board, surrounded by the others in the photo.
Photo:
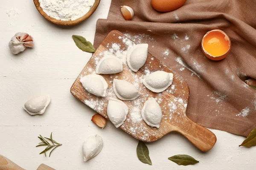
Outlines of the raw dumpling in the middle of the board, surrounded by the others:
{"type": "Polygon", "coordinates": [[[113,89],[121,100],[134,100],[140,96],[137,88],[126,80],[113,79],[113,89]]]}

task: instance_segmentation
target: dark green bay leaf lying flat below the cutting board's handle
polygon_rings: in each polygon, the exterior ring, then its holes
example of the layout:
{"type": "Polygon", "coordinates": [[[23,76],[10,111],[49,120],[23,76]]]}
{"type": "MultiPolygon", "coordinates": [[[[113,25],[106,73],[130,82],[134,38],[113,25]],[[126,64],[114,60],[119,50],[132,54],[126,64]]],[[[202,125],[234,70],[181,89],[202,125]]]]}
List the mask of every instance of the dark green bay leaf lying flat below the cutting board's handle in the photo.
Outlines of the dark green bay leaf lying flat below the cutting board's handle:
{"type": "Polygon", "coordinates": [[[199,161],[195,160],[192,156],[189,155],[175,155],[168,158],[170,161],[175,162],[178,165],[191,165],[191,164],[197,164],[199,161]]]}

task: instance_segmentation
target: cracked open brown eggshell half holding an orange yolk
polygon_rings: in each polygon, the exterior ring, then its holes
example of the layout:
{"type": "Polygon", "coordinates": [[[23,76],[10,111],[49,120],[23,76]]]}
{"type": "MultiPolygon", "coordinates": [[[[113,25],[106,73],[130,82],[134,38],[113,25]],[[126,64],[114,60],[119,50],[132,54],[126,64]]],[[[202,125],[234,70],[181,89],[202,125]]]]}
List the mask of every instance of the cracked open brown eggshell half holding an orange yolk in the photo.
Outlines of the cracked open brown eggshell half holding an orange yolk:
{"type": "Polygon", "coordinates": [[[221,60],[231,51],[230,37],[219,29],[207,32],[201,43],[204,55],[212,60],[221,60]]]}

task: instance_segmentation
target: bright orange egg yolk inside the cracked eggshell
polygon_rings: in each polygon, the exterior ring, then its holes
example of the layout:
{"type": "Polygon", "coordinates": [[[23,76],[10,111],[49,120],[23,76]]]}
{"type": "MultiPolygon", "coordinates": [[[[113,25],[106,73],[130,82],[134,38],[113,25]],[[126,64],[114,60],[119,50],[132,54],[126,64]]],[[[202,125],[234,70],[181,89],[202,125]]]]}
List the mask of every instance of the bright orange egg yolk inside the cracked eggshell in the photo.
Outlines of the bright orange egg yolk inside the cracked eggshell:
{"type": "Polygon", "coordinates": [[[218,57],[229,50],[229,39],[221,32],[213,31],[204,37],[203,47],[207,53],[218,57]]]}

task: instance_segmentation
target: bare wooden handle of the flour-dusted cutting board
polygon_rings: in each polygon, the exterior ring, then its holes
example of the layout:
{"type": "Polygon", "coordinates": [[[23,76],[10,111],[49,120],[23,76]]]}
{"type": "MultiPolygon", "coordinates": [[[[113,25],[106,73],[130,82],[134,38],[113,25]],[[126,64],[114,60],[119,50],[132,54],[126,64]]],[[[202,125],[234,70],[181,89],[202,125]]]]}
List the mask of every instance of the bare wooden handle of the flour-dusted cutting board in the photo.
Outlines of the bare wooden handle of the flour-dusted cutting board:
{"type": "Polygon", "coordinates": [[[212,149],[217,141],[215,134],[207,128],[196,124],[188,117],[185,119],[187,121],[186,126],[178,127],[176,131],[185,136],[199,150],[207,152],[212,149]]]}

